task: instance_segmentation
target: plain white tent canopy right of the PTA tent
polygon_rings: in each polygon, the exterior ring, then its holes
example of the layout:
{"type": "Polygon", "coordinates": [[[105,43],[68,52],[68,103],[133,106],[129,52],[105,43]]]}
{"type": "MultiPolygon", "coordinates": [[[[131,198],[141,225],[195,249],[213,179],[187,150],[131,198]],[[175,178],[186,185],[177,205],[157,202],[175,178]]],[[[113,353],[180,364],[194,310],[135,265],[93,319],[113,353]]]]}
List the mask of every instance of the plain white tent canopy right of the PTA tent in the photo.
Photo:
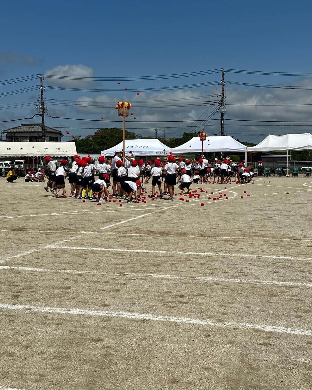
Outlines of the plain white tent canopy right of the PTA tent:
{"type": "MultiPolygon", "coordinates": [[[[202,141],[199,137],[193,137],[191,140],[185,142],[171,149],[173,153],[201,153],[202,141]]],[[[206,136],[204,141],[204,152],[246,152],[246,146],[240,142],[234,140],[229,135],[223,135],[220,137],[206,136]]]]}

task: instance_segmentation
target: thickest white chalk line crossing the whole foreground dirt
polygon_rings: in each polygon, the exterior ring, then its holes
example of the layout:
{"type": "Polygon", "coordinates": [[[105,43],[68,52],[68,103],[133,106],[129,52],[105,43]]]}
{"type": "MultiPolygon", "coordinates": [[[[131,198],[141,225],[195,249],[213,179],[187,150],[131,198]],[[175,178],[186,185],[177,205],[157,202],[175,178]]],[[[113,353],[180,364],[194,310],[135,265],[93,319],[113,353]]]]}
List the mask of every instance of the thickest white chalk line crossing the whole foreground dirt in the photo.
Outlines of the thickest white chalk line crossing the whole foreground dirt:
{"type": "Polygon", "coordinates": [[[284,326],[272,326],[261,324],[249,324],[239,322],[217,322],[213,320],[187,318],[187,317],[173,317],[160,316],[155,314],[141,314],[132,312],[113,312],[108,310],[85,310],[80,308],[60,308],[60,307],[38,307],[30,305],[9,305],[0,303],[0,309],[4,310],[18,310],[25,311],[25,313],[39,312],[39,313],[56,313],[56,314],[75,314],[80,316],[95,316],[95,317],[118,317],[127,319],[149,320],[149,321],[166,321],[174,323],[194,324],[202,326],[217,326],[219,328],[233,328],[233,329],[257,329],[264,332],[274,333],[288,333],[294,335],[312,336],[312,330],[285,328],[284,326]]]}

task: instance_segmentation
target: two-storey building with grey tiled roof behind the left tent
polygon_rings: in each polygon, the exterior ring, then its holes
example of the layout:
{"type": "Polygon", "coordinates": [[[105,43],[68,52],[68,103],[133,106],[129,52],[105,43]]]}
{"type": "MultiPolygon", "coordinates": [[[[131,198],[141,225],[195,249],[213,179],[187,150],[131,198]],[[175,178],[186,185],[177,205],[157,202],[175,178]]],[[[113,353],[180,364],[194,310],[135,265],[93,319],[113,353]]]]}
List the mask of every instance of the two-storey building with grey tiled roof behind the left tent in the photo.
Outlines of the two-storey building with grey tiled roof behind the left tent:
{"type": "MultiPolygon", "coordinates": [[[[45,126],[46,142],[61,142],[62,131],[45,126]]],[[[43,142],[41,123],[22,123],[21,126],[3,130],[8,142],[43,142]]]]}

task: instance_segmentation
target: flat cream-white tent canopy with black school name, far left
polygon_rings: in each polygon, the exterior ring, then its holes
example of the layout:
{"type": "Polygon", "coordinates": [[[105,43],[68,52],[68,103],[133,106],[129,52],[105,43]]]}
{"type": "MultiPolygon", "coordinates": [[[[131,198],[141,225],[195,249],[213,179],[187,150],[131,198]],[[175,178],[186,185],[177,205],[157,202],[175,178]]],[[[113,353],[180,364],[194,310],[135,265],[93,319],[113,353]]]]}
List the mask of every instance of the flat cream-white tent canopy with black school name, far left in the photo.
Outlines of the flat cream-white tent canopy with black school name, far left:
{"type": "Polygon", "coordinates": [[[66,157],[75,154],[75,142],[0,142],[0,157],[66,157]]]}

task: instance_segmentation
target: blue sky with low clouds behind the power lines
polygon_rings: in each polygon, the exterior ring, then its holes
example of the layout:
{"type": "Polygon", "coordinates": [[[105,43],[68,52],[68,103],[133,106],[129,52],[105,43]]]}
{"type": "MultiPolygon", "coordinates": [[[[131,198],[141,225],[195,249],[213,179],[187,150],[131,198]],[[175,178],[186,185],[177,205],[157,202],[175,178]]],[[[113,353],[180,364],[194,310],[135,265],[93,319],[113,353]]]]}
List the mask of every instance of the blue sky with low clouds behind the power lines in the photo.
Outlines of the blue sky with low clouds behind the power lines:
{"type": "MultiPolygon", "coordinates": [[[[268,71],[309,72],[311,69],[310,51],[310,2],[282,1],[223,1],[217,2],[82,2],[55,1],[40,4],[34,1],[4,2],[2,4],[2,39],[0,53],[0,80],[46,73],[47,70],[63,69],[75,75],[78,65],[87,75],[100,76],[143,76],[171,74],[215,69],[220,67],[268,71]],[[41,23],[42,21],[42,23],[41,23]],[[68,67],[65,67],[68,66],[68,67]],[[65,68],[63,68],[65,67],[65,68]]],[[[80,69],[81,70],[81,69],[80,69]]],[[[56,73],[55,73],[56,74],[56,73]]],[[[65,74],[65,73],[64,73],[65,74]]],[[[79,73],[81,74],[81,73],[79,73]]],[[[150,99],[181,99],[206,96],[215,93],[215,86],[164,91],[153,95],[142,93],[138,98],[134,93],[125,93],[124,88],[140,89],[147,87],[182,85],[220,80],[220,74],[193,78],[125,82],[104,82],[99,88],[118,89],[120,92],[78,92],[45,90],[45,97],[83,101],[90,98],[98,101],[114,102],[120,99],[132,101],[137,119],[147,120],[190,120],[204,115],[203,107],[146,108],[135,110],[136,101],[150,99]],[[105,96],[105,97],[103,97],[105,96]]],[[[289,76],[261,76],[226,73],[226,80],[266,84],[310,85],[309,78],[289,76]]],[[[1,92],[37,85],[34,80],[26,83],[1,86],[1,92]]],[[[45,80],[45,85],[55,85],[53,80],[45,80]]],[[[220,92],[220,89],[217,90],[220,92]]],[[[0,96],[0,106],[25,101],[34,101],[37,92],[0,96]]],[[[252,87],[227,86],[227,103],[242,104],[266,102],[268,104],[309,103],[309,91],[266,90],[252,87]]],[[[51,103],[51,102],[50,102],[51,103]]],[[[74,106],[46,106],[53,116],[78,117],[87,119],[118,119],[110,108],[74,106]]],[[[0,110],[0,120],[23,117],[32,106],[0,110]]],[[[287,107],[247,107],[227,106],[226,117],[237,119],[309,120],[309,107],[299,106],[292,110],[287,107]],[[304,119],[303,119],[304,118],[304,119]]],[[[33,112],[34,113],[34,112],[33,112]]],[[[32,114],[33,114],[32,113],[32,114]]],[[[216,113],[215,118],[218,117],[216,113]]],[[[38,118],[40,119],[40,118],[38,118]]],[[[39,121],[36,119],[36,121],[39,121]]],[[[24,121],[26,122],[26,121],[24,121]]],[[[94,130],[81,127],[100,126],[99,123],[47,119],[48,126],[78,127],[71,134],[87,135],[94,130]]],[[[217,125],[217,122],[213,122],[217,125]]],[[[12,122],[12,126],[19,122],[12,122]]],[[[191,123],[192,124],[192,123],[191,123]]],[[[11,123],[2,124],[10,127],[11,123]]],[[[106,123],[105,126],[113,126],[106,123]]],[[[182,125],[190,125],[183,123],[182,125]]],[[[144,125],[129,119],[128,128],[164,127],[163,124],[144,125]],[[132,122],[131,122],[131,121],[132,122]]],[[[166,135],[180,135],[179,129],[168,123],[166,135]]],[[[102,126],[103,127],[103,126],[102,126]]],[[[183,128],[181,133],[183,132],[183,128]]],[[[147,129],[135,129],[136,133],[150,135],[147,129]]],[[[208,133],[217,132],[218,126],[207,128],[208,133]]],[[[243,128],[227,127],[225,132],[237,133],[241,140],[259,142],[264,135],[277,131],[310,131],[302,128],[243,128]]],[[[64,138],[64,140],[66,140],[64,138]]]]}

